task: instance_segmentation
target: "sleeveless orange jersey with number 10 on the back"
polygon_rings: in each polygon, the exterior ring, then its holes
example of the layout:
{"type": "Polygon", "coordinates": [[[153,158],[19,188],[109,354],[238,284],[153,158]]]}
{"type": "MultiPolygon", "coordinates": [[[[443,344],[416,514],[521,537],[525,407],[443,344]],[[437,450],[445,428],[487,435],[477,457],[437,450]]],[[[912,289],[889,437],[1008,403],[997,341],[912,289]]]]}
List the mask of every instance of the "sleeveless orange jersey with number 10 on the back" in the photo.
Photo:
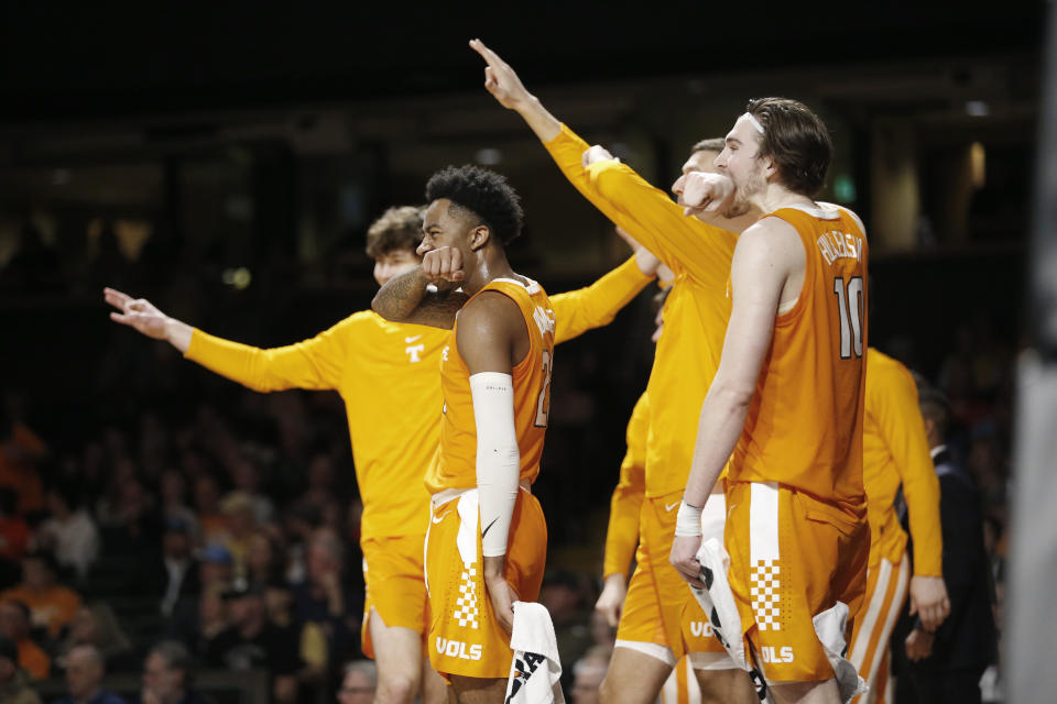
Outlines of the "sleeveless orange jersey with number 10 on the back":
{"type": "Polygon", "coordinates": [[[849,211],[783,208],[806,254],[796,304],[778,315],[729,479],[777,482],[861,515],[867,239],[849,211]]]}

